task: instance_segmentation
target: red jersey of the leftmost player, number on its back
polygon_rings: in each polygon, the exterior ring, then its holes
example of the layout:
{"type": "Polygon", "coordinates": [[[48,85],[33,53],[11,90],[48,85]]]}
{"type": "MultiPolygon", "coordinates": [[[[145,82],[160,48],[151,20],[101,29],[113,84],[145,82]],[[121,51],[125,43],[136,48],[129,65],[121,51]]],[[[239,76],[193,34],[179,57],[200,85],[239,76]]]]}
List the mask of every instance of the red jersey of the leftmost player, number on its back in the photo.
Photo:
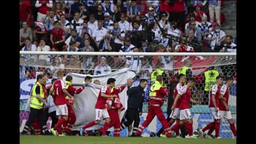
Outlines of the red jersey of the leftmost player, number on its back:
{"type": "Polygon", "coordinates": [[[63,89],[66,89],[66,83],[62,79],[57,79],[53,84],[53,90],[55,91],[55,105],[65,105],[66,104],[66,94],[63,93],[63,89]]]}

